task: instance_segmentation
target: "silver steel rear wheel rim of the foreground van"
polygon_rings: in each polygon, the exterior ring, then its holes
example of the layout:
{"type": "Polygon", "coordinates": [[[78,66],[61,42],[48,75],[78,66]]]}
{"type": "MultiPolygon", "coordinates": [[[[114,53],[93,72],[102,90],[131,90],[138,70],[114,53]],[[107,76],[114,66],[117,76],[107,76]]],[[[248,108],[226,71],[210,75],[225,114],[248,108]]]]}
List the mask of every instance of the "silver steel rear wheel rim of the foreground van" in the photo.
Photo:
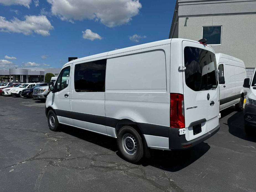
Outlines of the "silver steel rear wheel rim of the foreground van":
{"type": "Polygon", "coordinates": [[[128,155],[134,155],[137,151],[138,144],[135,137],[132,134],[126,133],[122,138],[123,150],[128,155]]]}

